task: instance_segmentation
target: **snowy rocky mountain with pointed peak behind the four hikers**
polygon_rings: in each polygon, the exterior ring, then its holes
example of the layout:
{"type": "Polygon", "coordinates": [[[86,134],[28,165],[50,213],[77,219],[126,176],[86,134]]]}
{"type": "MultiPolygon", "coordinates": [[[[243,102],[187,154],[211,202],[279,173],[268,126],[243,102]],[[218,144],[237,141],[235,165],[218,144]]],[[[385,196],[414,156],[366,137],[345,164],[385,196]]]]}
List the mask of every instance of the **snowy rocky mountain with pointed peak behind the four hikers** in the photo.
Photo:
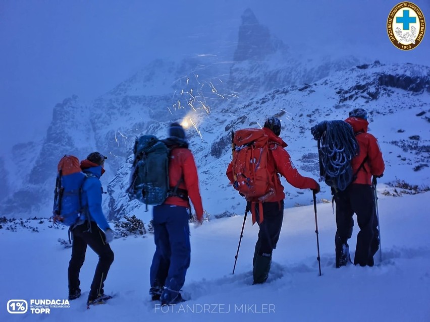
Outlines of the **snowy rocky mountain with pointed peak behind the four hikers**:
{"type": "MultiPolygon", "coordinates": [[[[344,119],[358,106],[369,111],[370,130],[380,139],[387,159],[384,181],[412,176],[411,183],[426,182],[430,137],[419,129],[428,126],[430,116],[428,67],[365,63],[351,56],[298,56],[247,10],[230,59],[207,54],[155,60],[93,102],[72,96],[57,104],[44,142],[17,146],[5,161],[9,171],[2,171],[2,181],[10,183],[2,187],[8,197],[0,213],[49,216],[60,158],[64,154],[85,158],[97,150],[109,157],[102,177],[109,194],[106,213],[111,219],[133,214],[142,207],[125,196],[135,137],[144,133],[165,137],[173,120],[189,123],[187,136],[205,210],[213,215],[242,212],[243,199],[227,178],[220,180],[231,158],[231,130],[259,126],[267,116],[277,115],[296,166],[316,178],[310,127],[324,119],[344,119]],[[391,173],[394,164],[402,164],[405,171],[391,173]],[[218,192],[226,189],[231,189],[231,196],[220,200],[218,192]]],[[[290,186],[286,191],[289,206],[310,201],[302,191],[290,186]]],[[[323,189],[321,198],[329,197],[328,189],[323,189]]]]}

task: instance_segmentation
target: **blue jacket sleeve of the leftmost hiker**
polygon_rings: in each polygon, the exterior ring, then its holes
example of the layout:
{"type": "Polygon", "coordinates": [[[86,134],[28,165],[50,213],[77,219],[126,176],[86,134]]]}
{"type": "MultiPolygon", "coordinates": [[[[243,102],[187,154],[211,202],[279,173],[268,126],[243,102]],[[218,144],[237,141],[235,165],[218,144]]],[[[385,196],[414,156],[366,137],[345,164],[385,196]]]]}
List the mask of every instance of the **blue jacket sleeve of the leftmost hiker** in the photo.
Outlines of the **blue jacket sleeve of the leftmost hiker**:
{"type": "Polygon", "coordinates": [[[89,215],[104,231],[110,227],[101,210],[101,182],[96,178],[88,178],[85,183],[89,215]]]}

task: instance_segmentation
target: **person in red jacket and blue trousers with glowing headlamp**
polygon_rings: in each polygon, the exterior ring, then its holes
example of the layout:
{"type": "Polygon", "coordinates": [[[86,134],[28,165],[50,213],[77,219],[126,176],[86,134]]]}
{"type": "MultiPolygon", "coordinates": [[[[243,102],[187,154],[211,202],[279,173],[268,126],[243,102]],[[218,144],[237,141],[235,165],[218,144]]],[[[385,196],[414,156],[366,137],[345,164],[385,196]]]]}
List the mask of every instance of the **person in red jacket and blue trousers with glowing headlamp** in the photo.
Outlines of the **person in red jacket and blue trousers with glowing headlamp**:
{"type": "Polygon", "coordinates": [[[198,224],[203,222],[203,206],[199,192],[197,168],[188,150],[185,131],[179,123],[172,123],[170,137],[163,142],[171,150],[169,160],[170,192],[166,201],[153,208],[155,253],[150,269],[149,294],[162,304],[182,302],[179,292],[185,283],[190,266],[190,219],[194,206],[198,224]]]}

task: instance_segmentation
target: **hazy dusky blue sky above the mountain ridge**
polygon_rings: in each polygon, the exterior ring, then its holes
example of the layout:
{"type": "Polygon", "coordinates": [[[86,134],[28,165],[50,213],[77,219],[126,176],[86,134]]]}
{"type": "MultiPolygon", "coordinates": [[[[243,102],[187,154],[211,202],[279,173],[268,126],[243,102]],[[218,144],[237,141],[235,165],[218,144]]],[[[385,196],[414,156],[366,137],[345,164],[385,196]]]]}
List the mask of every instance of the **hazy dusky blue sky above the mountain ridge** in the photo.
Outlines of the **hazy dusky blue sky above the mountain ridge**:
{"type": "MultiPolygon", "coordinates": [[[[232,53],[248,7],[292,47],[430,65],[430,36],[408,52],[390,43],[385,24],[397,2],[3,0],[2,154],[17,142],[42,138],[53,106],[72,94],[91,100],[157,57],[232,53]]],[[[415,4],[429,20],[428,2],[415,4]]]]}

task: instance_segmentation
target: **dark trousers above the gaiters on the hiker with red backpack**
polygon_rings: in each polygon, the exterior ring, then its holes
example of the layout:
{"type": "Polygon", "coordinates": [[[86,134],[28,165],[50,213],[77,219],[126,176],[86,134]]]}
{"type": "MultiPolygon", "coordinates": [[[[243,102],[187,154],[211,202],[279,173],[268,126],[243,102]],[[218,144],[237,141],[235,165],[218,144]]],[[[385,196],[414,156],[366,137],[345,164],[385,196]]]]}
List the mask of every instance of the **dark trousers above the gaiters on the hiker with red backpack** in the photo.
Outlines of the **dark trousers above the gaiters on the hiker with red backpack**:
{"type": "MultiPolygon", "coordinates": [[[[255,219],[259,222],[259,205],[255,204],[255,219]]],[[[282,220],[284,219],[284,201],[263,203],[263,222],[258,224],[258,240],[256,254],[271,254],[281,234],[282,220]]]]}

